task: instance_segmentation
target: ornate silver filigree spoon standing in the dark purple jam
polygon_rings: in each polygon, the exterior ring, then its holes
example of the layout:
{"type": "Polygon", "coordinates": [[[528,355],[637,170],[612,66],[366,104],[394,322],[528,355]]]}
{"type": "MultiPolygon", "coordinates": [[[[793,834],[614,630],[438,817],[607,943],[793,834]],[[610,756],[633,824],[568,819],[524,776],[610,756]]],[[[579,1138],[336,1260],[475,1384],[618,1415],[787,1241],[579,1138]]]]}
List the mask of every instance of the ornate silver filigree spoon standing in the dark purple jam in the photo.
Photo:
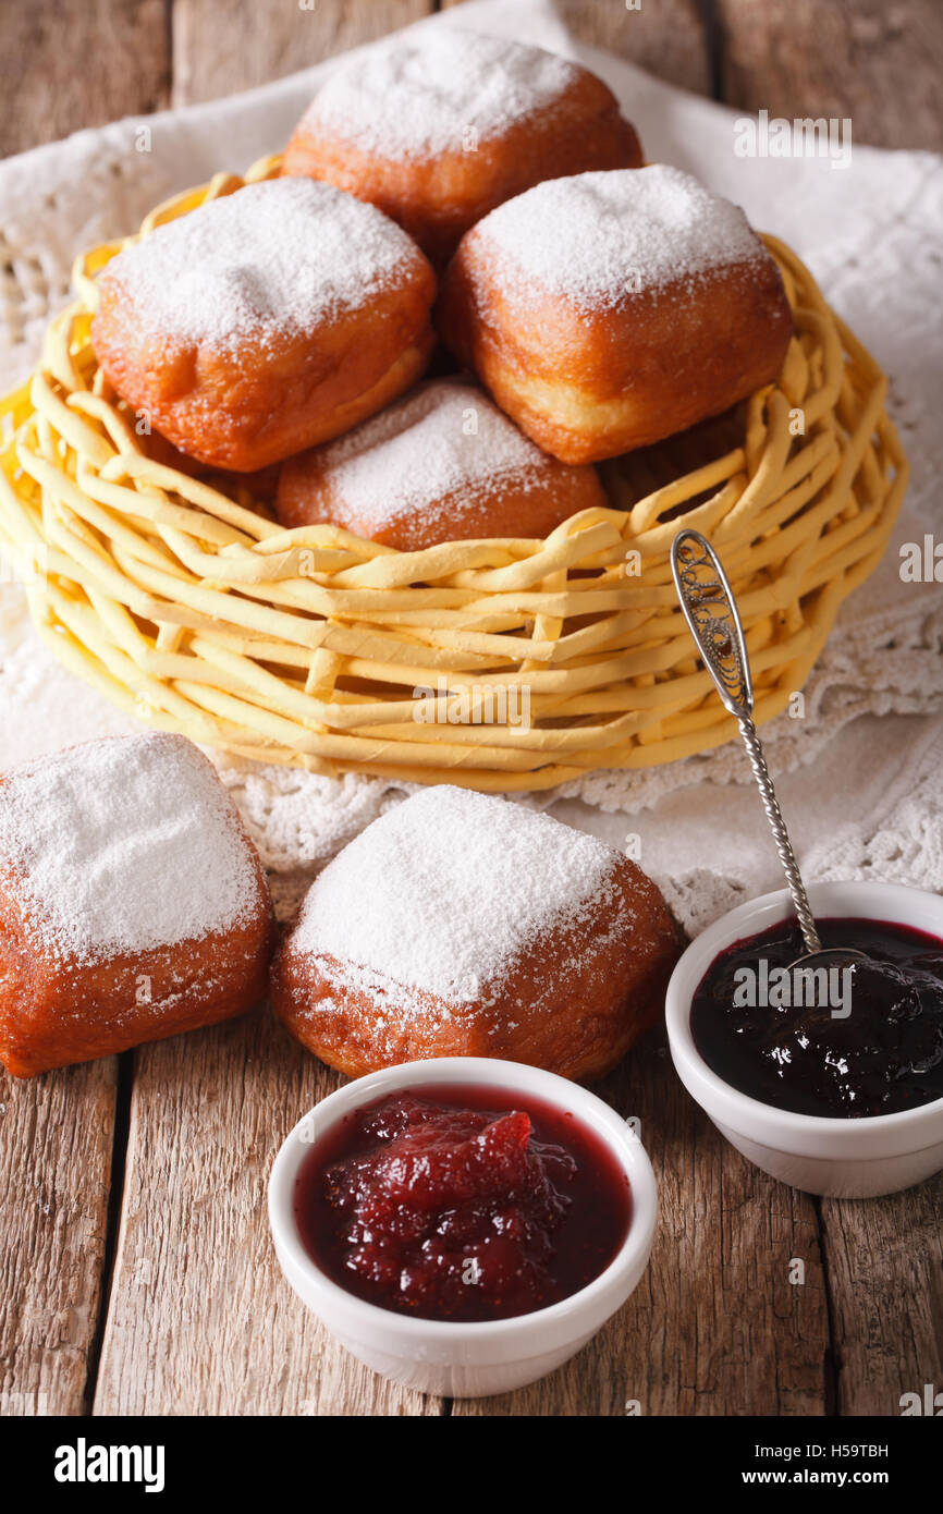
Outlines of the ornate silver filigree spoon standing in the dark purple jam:
{"type": "Polygon", "coordinates": [[[842,946],[822,946],[822,939],[799,874],[796,854],[793,852],[786,821],[780,810],[776,790],[766,766],[763,745],[754,724],[754,684],[749,672],[749,656],[743,637],[743,624],[737,613],[737,604],[727,574],[720,566],[720,559],[701,531],[684,527],[678,531],[671,548],[671,571],[681,601],[681,610],[687,621],[701,659],[711,675],[724,707],[734,716],[740,727],[740,736],[746,746],[746,755],[760,789],[763,808],[769,819],[780,861],[786,874],[789,892],[792,893],[799,930],[805,943],[804,955],[798,957],[792,967],[814,970],[867,961],[864,952],[845,949],[842,946]]]}

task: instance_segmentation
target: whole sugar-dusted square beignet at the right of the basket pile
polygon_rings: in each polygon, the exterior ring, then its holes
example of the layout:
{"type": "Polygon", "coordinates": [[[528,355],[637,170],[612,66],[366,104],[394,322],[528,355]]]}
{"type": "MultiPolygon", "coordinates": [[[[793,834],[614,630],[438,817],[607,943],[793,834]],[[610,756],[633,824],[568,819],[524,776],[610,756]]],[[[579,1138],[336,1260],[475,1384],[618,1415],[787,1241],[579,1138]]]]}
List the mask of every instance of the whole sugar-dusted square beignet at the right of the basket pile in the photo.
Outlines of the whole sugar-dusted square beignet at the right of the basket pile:
{"type": "Polygon", "coordinates": [[[568,463],[616,457],[772,383],[792,310],[739,206],[678,168],[554,179],[468,232],[439,330],[568,463]]]}

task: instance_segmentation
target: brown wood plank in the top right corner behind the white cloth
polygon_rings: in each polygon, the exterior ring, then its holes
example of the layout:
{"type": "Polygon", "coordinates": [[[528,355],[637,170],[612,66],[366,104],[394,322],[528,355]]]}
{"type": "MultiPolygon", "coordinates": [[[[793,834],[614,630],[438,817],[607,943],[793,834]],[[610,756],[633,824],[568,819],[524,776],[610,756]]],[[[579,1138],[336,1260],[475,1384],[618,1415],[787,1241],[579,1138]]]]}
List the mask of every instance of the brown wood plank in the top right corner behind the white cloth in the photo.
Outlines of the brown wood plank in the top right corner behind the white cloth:
{"type": "Polygon", "coordinates": [[[940,0],[716,0],[722,98],[770,117],[851,118],[852,139],[943,148],[940,0]]]}

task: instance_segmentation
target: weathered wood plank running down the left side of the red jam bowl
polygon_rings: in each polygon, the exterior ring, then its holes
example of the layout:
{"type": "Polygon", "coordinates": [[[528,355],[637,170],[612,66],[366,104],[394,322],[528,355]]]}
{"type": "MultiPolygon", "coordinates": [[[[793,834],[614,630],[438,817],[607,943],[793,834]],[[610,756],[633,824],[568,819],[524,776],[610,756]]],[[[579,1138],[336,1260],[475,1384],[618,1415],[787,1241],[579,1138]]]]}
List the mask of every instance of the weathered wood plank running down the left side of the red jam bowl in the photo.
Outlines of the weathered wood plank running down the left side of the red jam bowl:
{"type": "Polygon", "coordinates": [[[439,1414],[338,1346],[282,1278],[266,1184],[339,1078],[268,1013],[135,1054],[95,1414],[439,1414]]]}

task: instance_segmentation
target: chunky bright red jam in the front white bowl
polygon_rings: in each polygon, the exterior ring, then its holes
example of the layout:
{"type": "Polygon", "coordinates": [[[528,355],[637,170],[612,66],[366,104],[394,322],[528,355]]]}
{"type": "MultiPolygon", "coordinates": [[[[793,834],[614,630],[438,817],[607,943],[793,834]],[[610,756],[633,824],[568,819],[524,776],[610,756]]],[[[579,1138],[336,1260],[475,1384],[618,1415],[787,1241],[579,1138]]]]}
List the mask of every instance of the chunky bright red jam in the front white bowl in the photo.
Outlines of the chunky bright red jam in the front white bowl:
{"type": "Polygon", "coordinates": [[[625,1173],[572,1114],[465,1084],[348,1114],[295,1185],[304,1248],[335,1282],[433,1320],[569,1297],[616,1257],[630,1217],[625,1173]]]}

